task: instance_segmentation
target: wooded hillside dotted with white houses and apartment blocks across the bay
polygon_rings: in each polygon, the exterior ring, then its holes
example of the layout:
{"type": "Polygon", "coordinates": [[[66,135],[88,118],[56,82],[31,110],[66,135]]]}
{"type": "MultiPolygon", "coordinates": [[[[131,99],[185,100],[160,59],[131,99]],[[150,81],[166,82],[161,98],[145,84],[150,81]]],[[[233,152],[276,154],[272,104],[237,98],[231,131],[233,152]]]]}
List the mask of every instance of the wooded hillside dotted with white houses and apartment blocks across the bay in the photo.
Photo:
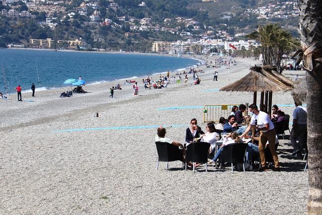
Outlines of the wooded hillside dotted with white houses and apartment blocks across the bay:
{"type": "Polygon", "coordinates": [[[248,49],[258,46],[246,35],[259,24],[296,36],[298,14],[295,0],[2,0],[0,46],[204,53],[230,41],[248,49]]]}

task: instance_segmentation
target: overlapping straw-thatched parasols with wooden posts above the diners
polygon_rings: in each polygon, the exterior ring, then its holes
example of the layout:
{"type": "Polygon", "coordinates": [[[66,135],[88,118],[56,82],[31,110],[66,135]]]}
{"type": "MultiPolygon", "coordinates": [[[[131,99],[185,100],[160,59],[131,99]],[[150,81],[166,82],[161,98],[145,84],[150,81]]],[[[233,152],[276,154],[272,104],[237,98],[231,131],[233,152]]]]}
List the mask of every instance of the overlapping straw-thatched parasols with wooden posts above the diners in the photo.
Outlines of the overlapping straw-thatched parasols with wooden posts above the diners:
{"type": "Polygon", "coordinates": [[[288,91],[293,88],[293,81],[276,72],[272,66],[251,67],[251,72],[241,79],[222,87],[220,91],[254,92],[253,103],[256,104],[257,92],[261,92],[260,109],[271,113],[272,92],[288,91]],[[265,102],[264,102],[265,97],[265,102]]]}

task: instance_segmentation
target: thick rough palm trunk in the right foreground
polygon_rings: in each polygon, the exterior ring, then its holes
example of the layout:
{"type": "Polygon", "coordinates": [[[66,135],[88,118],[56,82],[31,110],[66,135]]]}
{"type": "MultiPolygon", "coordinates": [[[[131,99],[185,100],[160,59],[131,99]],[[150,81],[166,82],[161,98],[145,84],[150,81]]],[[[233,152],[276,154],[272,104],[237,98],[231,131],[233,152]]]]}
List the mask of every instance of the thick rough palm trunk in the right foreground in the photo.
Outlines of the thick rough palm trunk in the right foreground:
{"type": "Polygon", "coordinates": [[[322,214],[322,65],[315,59],[322,57],[320,48],[314,49],[315,42],[322,41],[322,1],[299,0],[299,32],[303,51],[313,49],[312,55],[304,55],[307,70],[308,149],[309,149],[309,202],[308,214],[322,214]]]}

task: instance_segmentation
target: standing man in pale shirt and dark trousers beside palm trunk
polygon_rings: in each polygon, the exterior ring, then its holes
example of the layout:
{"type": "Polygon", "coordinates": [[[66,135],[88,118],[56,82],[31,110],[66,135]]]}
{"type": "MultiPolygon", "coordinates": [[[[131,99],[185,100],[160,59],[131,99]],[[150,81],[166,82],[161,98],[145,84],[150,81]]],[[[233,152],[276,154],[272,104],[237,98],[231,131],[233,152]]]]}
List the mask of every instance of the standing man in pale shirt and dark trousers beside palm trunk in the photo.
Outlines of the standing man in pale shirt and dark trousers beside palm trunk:
{"type": "Polygon", "coordinates": [[[291,130],[290,140],[294,148],[292,155],[297,154],[299,158],[302,158],[302,150],[305,147],[308,129],[307,129],[307,110],[302,107],[302,103],[298,100],[294,100],[295,109],[293,111],[293,128],[291,130]],[[296,140],[299,143],[296,143],[296,140]]]}

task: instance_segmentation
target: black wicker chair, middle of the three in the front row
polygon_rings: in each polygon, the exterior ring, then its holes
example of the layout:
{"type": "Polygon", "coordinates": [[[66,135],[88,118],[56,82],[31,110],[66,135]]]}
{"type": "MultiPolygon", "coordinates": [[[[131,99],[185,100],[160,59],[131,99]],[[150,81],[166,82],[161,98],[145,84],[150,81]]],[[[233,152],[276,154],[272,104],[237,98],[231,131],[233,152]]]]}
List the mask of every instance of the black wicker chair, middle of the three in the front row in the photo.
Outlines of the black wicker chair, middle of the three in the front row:
{"type": "Polygon", "coordinates": [[[193,162],[193,172],[195,172],[195,163],[206,163],[206,172],[208,171],[208,154],[209,154],[210,143],[205,142],[197,142],[190,143],[187,146],[186,152],[186,170],[187,170],[187,162],[193,162]]]}

